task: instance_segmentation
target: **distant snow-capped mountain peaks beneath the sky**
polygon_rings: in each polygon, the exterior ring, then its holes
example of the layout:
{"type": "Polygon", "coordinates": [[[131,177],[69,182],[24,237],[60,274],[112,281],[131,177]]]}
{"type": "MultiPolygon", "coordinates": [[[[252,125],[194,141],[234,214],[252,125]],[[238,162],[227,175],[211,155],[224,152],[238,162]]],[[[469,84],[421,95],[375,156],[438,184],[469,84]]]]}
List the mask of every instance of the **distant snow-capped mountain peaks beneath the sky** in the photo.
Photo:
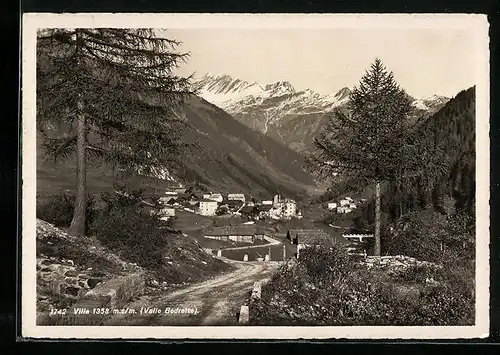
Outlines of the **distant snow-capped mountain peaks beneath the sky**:
{"type": "MultiPolygon", "coordinates": [[[[311,89],[296,90],[285,80],[260,84],[210,73],[196,80],[193,87],[198,95],[246,126],[298,152],[311,149],[313,137],[333,110],[346,107],[351,92],[343,87],[324,95],[311,89]]],[[[411,97],[412,118],[432,115],[449,99],[439,95],[411,97]]]]}

